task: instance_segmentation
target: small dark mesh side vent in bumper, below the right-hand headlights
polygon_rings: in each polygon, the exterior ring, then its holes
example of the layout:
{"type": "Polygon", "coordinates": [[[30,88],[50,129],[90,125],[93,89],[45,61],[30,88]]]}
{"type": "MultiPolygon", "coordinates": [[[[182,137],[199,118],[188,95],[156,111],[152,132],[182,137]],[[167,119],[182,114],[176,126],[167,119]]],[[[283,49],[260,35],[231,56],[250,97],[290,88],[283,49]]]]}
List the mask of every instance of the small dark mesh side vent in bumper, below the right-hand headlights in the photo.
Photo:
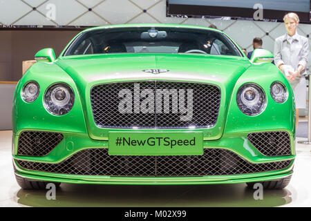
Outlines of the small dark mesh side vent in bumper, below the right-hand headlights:
{"type": "Polygon", "coordinates": [[[247,139],[263,155],[291,155],[290,135],[285,131],[249,133],[247,139]]]}

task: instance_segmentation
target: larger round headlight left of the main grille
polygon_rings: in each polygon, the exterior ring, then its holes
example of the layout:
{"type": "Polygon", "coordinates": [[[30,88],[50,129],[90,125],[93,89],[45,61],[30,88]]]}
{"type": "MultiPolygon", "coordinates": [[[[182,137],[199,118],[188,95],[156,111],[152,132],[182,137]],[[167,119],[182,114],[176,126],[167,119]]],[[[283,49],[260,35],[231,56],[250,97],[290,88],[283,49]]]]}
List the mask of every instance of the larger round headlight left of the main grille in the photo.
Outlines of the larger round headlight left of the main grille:
{"type": "Polygon", "coordinates": [[[44,106],[53,115],[65,115],[73,108],[74,102],[73,90],[66,84],[53,84],[44,95],[44,106]]]}

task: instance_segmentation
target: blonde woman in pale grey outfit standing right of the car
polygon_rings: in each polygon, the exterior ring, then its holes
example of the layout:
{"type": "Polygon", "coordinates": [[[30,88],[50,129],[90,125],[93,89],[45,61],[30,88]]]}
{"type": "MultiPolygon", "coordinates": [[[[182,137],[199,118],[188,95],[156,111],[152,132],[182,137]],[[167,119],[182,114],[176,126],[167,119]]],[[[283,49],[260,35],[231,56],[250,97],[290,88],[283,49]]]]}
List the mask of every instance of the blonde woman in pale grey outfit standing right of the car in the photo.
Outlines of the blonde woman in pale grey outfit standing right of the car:
{"type": "MultiPolygon", "coordinates": [[[[305,108],[306,100],[306,74],[305,68],[308,64],[309,41],[306,37],[299,35],[296,28],[299,17],[291,12],[283,18],[286,34],[276,38],[274,43],[274,63],[285,75],[294,90],[296,103],[296,125],[298,125],[299,108],[305,108]]],[[[309,110],[311,111],[311,110],[309,110]]]]}

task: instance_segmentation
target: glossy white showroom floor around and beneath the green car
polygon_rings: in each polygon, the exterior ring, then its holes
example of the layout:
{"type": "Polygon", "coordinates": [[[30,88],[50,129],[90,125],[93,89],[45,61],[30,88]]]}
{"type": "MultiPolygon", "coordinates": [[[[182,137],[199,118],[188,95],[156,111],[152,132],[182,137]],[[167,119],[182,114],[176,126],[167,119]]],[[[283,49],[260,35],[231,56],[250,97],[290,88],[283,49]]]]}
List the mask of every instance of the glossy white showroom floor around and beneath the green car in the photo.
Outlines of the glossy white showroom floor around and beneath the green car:
{"type": "Polygon", "coordinates": [[[311,206],[311,145],[296,145],[297,157],[290,185],[279,191],[264,191],[263,200],[254,200],[254,191],[245,188],[245,184],[62,184],[56,200],[47,200],[46,191],[23,191],[15,182],[11,136],[12,131],[0,131],[0,206],[311,206]]]}

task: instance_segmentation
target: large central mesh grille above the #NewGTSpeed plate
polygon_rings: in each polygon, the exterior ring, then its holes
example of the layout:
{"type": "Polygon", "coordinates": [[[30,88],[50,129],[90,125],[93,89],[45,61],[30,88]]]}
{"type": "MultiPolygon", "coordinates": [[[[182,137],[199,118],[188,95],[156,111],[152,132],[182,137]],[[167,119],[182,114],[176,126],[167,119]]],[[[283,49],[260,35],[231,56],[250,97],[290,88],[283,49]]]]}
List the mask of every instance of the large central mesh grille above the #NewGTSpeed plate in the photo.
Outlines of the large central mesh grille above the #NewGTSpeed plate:
{"type": "Polygon", "coordinates": [[[91,89],[91,106],[95,124],[102,128],[212,127],[220,89],[180,81],[100,84],[91,89]]]}

